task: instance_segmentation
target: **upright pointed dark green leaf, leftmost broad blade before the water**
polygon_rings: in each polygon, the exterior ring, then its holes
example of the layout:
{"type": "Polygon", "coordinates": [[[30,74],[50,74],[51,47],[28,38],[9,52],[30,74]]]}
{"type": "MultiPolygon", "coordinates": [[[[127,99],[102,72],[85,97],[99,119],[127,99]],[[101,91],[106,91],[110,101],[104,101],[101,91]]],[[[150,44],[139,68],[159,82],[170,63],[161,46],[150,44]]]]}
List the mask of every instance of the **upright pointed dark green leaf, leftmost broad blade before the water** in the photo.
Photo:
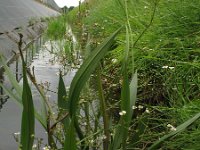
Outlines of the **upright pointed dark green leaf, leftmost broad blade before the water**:
{"type": "Polygon", "coordinates": [[[35,133],[35,117],[32,93],[26,76],[26,66],[23,65],[23,92],[22,92],[22,122],[21,122],[21,143],[22,150],[32,150],[35,133]]]}

